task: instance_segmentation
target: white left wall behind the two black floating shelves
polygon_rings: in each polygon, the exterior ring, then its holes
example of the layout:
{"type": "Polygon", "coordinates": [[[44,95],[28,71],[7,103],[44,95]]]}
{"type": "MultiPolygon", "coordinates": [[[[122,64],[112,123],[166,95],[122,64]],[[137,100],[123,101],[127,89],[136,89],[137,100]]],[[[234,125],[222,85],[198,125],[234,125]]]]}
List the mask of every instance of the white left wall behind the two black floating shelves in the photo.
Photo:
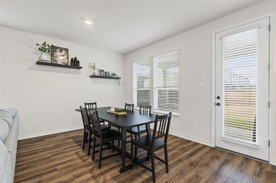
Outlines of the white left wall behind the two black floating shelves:
{"type": "Polygon", "coordinates": [[[81,126],[75,109],[84,102],[124,106],[124,55],[0,27],[0,108],[18,109],[19,136],[81,126]],[[36,43],[43,41],[68,48],[69,59],[76,56],[83,68],[36,65],[36,43]],[[89,78],[88,63],[95,60],[101,69],[121,76],[121,85],[89,78]],[[61,117],[70,121],[61,122],[61,117]]]}

